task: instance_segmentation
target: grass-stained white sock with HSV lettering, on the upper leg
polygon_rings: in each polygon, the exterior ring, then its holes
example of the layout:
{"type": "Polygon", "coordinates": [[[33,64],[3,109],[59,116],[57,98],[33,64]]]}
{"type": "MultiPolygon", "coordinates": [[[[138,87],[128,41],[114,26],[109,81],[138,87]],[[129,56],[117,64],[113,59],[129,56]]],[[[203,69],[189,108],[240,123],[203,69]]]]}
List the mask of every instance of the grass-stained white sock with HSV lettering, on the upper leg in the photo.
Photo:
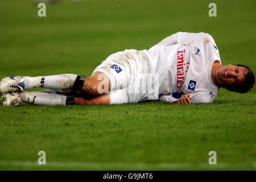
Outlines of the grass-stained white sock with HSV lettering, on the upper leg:
{"type": "Polygon", "coordinates": [[[52,76],[28,77],[24,76],[25,89],[48,88],[58,92],[71,92],[77,75],[63,74],[52,76]]]}

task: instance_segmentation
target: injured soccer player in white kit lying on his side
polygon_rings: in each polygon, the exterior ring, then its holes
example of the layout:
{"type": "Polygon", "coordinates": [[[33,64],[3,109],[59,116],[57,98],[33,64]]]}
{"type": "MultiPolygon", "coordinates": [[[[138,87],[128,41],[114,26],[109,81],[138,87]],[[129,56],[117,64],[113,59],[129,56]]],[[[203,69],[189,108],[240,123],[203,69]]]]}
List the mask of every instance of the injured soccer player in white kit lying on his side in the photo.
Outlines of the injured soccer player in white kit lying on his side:
{"type": "Polygon", "coordinates": [[[255,78],[245,65],[221,65],[209,34],[177,32],[149,50],[110,55],[92,76],[6,77],[0,82],[2,105],[123,104],[159,100],[177,104],[210,103],[218,90],[245,93],[255,78]],[[24,92],[47,88],[40,92],[24,92]],[[22,91],[22,92],[20,92],[22,91]],[[88,97],[89,96],[89,97],[88,97]]]}

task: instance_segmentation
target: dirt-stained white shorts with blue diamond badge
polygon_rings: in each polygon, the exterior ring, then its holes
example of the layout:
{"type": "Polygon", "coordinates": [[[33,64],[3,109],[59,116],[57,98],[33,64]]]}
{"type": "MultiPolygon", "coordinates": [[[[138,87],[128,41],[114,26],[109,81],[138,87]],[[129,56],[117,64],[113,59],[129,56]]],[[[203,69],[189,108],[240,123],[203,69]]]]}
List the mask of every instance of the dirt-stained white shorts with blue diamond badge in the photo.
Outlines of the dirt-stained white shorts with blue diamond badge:
{"type": "MultiPolygon", "coordinates": [[[[158,85],[155,87],[157,93],[154,96],[151,94],[152,90],[148,92],[150,89],[146,82],[151,73],[142,51],[126,49],[113,53],[94,70],[96,71],[105,73],[110,79],[110,104],[141,102],[148,100],[148,96],[151,100],[158,99],[158,85]]],[[[154,81],[152,82],[154,85],[154,81]]]]}

